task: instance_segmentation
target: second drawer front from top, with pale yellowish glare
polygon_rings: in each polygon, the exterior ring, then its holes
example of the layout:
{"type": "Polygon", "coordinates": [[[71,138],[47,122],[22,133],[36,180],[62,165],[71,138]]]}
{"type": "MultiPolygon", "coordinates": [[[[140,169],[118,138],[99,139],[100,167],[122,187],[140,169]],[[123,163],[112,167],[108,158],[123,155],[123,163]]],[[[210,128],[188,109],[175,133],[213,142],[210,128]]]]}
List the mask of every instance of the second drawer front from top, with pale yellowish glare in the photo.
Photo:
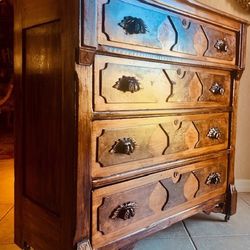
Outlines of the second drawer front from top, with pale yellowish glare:
{"type": "Polygon", "coordinates": [[[94,110],[229,106],[230,73],[97,56],[94,110]]]}

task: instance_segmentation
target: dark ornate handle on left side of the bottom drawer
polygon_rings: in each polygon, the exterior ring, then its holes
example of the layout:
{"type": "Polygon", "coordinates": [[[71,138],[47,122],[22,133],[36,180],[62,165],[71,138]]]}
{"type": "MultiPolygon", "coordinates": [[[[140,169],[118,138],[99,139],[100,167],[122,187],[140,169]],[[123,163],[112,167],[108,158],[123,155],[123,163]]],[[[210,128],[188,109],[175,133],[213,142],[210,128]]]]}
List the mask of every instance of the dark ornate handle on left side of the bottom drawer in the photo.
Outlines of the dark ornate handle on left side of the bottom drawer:
{"type": "Polygon", "coordinates": [[[136,202],[126,202],[119,205],[111,214],[111,219],[128,220],[135,216],[136,202]]]}

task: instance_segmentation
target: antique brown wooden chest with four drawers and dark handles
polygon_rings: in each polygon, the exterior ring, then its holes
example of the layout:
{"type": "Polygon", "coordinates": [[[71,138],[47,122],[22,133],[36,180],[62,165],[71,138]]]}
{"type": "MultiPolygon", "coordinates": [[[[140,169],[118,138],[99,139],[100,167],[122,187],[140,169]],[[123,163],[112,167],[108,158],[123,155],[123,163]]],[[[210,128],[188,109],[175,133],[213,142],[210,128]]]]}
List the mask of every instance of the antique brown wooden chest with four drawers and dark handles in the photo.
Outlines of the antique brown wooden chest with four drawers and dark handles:
{"type": "Polygon", "coordinates": [[[193,0],[15,11],[19,246],[132,249],[198,212],[236,212],[246,21],[193,0]]]}

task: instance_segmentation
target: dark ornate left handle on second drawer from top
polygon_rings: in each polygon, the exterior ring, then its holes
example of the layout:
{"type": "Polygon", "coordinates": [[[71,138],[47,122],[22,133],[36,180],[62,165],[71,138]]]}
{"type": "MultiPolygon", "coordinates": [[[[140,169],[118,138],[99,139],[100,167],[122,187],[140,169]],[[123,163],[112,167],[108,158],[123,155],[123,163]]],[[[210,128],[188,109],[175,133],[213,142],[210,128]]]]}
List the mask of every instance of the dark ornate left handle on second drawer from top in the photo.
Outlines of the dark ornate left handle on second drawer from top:
{"type": "Polygon", "coordinates": [[[119,78],[119,80],[115,83],[115,85],[113,86],[113,88],[118,89],[122,92],[137,92],[140,89],[142,89],[141,84],[139,83],[139,81],[132,76],[122,76],[121,78],[119,78]]]}

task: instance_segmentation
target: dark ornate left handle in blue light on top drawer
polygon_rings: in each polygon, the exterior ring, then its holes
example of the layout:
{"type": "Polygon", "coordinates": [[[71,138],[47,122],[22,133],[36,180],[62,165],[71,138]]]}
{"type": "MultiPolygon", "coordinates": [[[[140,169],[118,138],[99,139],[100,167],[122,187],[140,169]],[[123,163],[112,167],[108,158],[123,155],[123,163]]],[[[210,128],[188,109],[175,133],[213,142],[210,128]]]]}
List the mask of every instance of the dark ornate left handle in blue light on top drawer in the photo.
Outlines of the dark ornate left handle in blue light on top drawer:
{"type": "Polygon", "coordinates": [[[145,34],[148,31],[144,21],[137,17],[125,16],[118,25],[125,30],[126,35],[145,34]]]}

